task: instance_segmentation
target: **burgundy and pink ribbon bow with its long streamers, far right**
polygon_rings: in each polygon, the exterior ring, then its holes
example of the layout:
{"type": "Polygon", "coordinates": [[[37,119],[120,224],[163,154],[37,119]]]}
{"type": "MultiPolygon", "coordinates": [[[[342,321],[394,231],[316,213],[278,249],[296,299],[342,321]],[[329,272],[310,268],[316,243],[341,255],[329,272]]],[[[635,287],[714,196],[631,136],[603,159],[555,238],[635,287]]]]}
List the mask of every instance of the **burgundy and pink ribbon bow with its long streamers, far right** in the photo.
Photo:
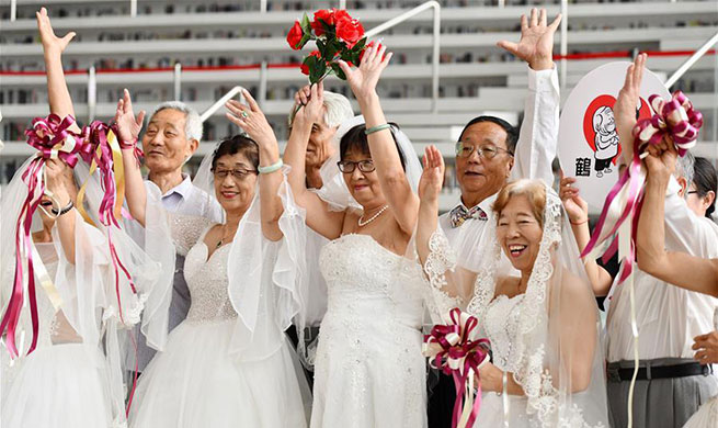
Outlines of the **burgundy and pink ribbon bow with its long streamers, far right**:
{"type": "Polygon", "coordinates": [[[684,156],[695,145],[698,129],[703,125],[703,115],[693,108],[688,98],[681,91],[675,91],[669,101],[653,94],[649,97],[649,102],[654,114],[650,119],[639,121],[634,126],[634,158],[606,195],[606,202],[601,211],[596,227],[585,249],[581,252],[581,257],[586,257],[600,245],[612,239],[603,254],[603,260],[613,257],[618,249],[617,232],[630,216],[630,246],[627,254],[620,255],[622,271],[618,277],[618,284],[630,275],[636,262],[636,232],[643,202],[643,183],[646,181],[645,176],[641,173],[641,153],[646,150],[648,145],[657,145],[668,138],[673,140],[679,149],[679,155],[684,156]],[[620,215],[617,219],[609,218],[611,207],[615,207],[615,203],[620,203],[616,198],[622,192],[626,193],[626,198],[624,205],[619,206],[620,215]]]}

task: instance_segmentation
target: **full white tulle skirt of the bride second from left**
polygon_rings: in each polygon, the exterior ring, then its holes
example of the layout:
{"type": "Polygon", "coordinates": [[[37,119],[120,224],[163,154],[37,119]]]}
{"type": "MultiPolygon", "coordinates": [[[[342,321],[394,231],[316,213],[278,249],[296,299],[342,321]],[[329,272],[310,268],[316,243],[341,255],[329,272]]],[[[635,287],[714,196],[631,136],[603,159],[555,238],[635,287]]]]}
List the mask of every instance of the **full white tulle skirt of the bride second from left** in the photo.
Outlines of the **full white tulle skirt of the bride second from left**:
{"type": "Polygon", "coordinates": [[[288,342],[239,361],[228,352],[235,323],[185,320],[172,330],[139,378],[130,427],[306,427],[308,387],[288,342]]]}

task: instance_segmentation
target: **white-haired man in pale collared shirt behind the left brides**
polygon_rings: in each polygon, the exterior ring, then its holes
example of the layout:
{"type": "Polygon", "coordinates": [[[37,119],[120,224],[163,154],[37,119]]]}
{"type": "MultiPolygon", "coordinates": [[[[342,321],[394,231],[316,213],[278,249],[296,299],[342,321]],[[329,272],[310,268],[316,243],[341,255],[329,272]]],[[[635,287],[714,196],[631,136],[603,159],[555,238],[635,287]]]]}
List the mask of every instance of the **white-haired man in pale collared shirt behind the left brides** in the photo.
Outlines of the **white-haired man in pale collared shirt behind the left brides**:
{"type": "MultiPolygon", "coordinates": [[[[124,102],[132,110],[129,93],[125,90],[124,102]]],[[[141,123],[141,115],[140,117],[141,123]]],[[[139,127],[136,129],[139,133],[139,127]]],[[[172,213],[207,217],[214,223],[224,222],[224,212],[217,200],[192,183],[189,174],[182,172],[185,161],[192,157],[202,139],[202,121],[196,111],[183,102],[169,101],[159,104],[149,119],[141,137],[145,166],[149,169],[147,185],[157,185],[162,206],[172,213]]],[[[139,225],[127,222],[136,237],[143,236],[139,225]]],[[[190,311],[191,296],[184,280],[184,257],[175,256],[172,283],[172,299],[169,307],[168,329],[171,331],[184,320],[190,311]]],[[[147,345],[139,325],[135,328],[137,351],[128,347],[125,368],[143,372],[155,356],[155,349],[147,345]],[[137,361],[135,361],[137,356],[137,361]]]]}

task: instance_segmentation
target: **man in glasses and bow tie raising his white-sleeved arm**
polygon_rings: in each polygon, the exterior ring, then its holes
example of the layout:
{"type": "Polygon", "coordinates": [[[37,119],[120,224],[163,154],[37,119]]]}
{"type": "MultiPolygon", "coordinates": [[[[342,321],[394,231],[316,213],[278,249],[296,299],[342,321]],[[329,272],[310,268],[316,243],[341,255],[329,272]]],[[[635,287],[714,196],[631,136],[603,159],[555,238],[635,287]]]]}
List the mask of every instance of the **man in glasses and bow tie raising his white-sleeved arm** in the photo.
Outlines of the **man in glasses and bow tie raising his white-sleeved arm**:
{"type": "MultiPolygon", "coordinates": [[[[460,201],[438,217],[438,226],[459,257],[480,257],[476,249],[485,247],[481,236],[486,224],[492,221],[491,204],[508,180],[554,182],[551,162],[558,142],[560,95],[552,52],[559,23],[560,15],[547,25],[546,10],[533,9],[528,20],[522,16],[518,44],[499,43],[528,65],[524,121],[517,133],[499,117],[479,116],[461,131],[456,144],[460,201]]],[[[451,378],[441,375],[429,399],[430,426],[451,424],[455,396],[451,378]]]]}

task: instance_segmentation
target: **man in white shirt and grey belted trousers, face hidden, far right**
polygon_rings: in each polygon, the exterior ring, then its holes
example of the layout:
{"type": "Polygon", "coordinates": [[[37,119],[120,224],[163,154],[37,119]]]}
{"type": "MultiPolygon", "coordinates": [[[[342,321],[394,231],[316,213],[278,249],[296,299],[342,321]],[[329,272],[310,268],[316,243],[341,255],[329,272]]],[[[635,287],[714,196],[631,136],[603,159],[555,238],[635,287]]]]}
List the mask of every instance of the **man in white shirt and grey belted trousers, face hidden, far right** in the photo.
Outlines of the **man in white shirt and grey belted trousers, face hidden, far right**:
{"type": "MultiPolygon", "coordinates": [[[[626,83],[614,108],[624,162],[632,159],[631,132],[636,124],[645,60],[645,55],[639,55],[628,68],[626,83]]],[[[666,142],[661,145],[668,147],[666,142]]],[[[653,149],[649,147],[649,151],[653,149]]],[[[716,225],[692,212],[685,200],[686,189],[693,180],[693,156],[688,153],[674,164],[664,201],[665,248],[702,258],[716,258],[716,225]]],[[[648,174],[649,189],[654,176],[648,174]]],[[[628,424],[628,397],[636,350],[634,312],[639,369],[632,395],[632,426],[682,427],[703,402],[718,392],[718,381],[711,367],[696,362],[692,349],[694,337],[713,329],[718,300],[651,277],[640,270],[646,261],[639,257],[638,269],[634,272],[634,311],[628,283],[614,283],[607,297],[606,387],[609,420],[616,428],[628,424]]]]}

